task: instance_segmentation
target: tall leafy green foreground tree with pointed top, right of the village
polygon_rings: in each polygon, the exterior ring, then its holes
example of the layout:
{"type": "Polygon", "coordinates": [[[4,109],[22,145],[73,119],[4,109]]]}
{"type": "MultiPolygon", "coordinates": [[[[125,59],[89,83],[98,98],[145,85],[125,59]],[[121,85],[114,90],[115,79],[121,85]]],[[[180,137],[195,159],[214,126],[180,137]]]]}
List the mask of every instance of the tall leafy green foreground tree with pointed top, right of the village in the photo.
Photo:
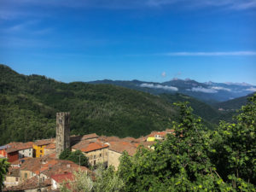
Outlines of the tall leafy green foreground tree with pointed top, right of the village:
{"type": "Polygon", "coordinates": [[[154,145],[154,150],[139,148],[137,154],[120,158],[119,174],[125,191],[229,191],[207,152],[209,133],[201,119],[186,103],[180,108],[179,122],[173,122],[176,135],[154,145]]]}

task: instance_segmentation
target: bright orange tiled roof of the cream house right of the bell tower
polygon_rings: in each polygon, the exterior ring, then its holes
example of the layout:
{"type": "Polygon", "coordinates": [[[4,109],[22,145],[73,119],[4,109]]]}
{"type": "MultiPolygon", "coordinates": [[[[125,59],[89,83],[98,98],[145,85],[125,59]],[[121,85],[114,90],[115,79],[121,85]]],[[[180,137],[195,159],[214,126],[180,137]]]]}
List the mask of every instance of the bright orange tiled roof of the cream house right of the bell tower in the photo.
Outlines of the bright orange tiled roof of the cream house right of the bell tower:
{"type": "Polygon", "coordinates": [[[103,144],[100,141],[90,142],[90,141],[82,141],[72,146],[74,149],[81,150],[84,153],[99,150],[102,148],[108,148],[107,144],[103,144]]]}

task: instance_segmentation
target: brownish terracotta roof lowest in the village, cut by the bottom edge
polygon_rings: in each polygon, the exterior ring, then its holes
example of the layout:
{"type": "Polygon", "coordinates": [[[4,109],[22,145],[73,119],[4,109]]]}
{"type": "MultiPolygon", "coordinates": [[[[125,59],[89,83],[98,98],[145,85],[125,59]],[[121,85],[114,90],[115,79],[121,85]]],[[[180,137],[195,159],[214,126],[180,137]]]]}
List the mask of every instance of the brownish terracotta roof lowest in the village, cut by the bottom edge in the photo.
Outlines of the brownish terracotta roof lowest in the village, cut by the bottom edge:
{"type": "Polygon", "coordinates": [[[20,191],[20,190],[27,190],[27,189],[38,189],[42,187],[50,186],[50,179],[46,179],[44,182],[41,182],[40,185],[38,185],[38,177],[32,177],[26,180],[26,182],[20,183],[17,186],[9,187],[6,189],[3,189],[3,191],[20,191]]]}

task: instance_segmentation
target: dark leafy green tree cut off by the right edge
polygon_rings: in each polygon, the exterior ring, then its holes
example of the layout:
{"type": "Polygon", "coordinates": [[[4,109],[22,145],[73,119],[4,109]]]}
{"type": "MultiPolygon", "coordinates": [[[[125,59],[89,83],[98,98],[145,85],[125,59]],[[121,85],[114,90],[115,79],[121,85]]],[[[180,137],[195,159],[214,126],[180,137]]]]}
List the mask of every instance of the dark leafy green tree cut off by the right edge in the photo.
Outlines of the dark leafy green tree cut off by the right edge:
{"type": "Polygon", "coordinates": [[[249,98],[236,123],[222,121],[212,135],[212,162],[234,189],[252,191],[256,186],[256,94],[249,98]],[[253,185],[254,186],[253,186],[253,185]]]}

